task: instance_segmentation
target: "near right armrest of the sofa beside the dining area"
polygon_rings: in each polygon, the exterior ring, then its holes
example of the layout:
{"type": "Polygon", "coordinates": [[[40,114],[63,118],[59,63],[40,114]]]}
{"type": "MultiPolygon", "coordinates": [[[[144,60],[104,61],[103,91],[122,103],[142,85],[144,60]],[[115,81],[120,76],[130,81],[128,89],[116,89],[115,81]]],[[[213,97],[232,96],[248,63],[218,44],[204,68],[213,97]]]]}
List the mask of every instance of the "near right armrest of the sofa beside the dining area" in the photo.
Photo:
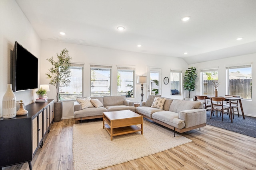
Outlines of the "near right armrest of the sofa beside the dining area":
{"type": "Polygon", "coordinates": [[[185,127],[206,123],[206,109],[190,109],[179,112],[179,119],[184,120],[185,127]]]}

